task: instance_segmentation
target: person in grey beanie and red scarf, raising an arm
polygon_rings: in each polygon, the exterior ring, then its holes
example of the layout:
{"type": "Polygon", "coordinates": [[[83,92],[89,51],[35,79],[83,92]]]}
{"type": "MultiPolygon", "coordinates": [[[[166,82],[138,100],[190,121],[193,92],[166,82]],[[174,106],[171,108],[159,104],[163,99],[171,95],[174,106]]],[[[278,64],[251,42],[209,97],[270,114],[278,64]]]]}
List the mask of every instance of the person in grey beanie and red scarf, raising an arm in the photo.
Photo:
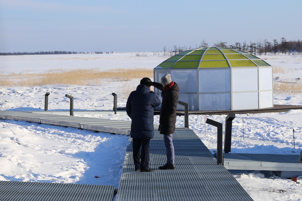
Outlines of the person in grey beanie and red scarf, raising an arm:
{"type": "Polygon", "coordinates": [[[175,169],[174,146],[172,136],[175,131],[176,107],[178,103],[178,85],[171,81],[171,75],[166,74],[161,78],[161,84],[152,82],[152,86],[161,90],[162,106],[159,115],[159,133],[164,135],[164,142],[167,152],[167,163],[160,166],[161,170],[175,169]]]}

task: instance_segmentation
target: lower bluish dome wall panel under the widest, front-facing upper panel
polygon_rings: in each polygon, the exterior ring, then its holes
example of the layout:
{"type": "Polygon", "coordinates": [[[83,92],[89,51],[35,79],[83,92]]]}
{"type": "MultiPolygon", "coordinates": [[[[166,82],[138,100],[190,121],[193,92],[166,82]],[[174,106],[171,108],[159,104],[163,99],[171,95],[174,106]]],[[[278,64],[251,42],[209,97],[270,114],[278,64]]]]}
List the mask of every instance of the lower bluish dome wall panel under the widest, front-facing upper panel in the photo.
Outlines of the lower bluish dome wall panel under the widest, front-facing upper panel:
{"type": "Polygon", "coordinates": [[[231,110],[231,94],[199,94],[199,110],[231,110]]]}

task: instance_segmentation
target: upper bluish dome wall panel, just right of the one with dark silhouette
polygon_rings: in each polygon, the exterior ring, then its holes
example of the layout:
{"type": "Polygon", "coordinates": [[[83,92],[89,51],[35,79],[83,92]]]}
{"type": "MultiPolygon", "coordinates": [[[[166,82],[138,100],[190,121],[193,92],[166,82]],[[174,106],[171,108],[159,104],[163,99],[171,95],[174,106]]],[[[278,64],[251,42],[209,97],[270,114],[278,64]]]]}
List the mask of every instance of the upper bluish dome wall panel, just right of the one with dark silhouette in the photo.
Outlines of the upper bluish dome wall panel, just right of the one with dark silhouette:
{"type": "Polygon", "coordinates": [[[230,69],[199,70],[199,92],[230,91],[230,69]]]}

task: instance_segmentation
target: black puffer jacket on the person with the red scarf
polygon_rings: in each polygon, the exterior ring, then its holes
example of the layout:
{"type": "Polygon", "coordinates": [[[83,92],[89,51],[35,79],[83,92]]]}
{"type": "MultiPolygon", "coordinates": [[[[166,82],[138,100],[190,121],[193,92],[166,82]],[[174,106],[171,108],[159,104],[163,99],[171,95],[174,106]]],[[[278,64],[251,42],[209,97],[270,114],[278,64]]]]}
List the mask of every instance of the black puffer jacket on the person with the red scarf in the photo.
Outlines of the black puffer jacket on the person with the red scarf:
{"type": "Polygon", "coordinates": [[[152,82],[152,86],[162,91],[162,106],[159,116],[159,133],[169,135],[175,131],[176,107],[178,102],[178,85],[175,83],[169,91],[163,91],[160,83],[152,82]]]}

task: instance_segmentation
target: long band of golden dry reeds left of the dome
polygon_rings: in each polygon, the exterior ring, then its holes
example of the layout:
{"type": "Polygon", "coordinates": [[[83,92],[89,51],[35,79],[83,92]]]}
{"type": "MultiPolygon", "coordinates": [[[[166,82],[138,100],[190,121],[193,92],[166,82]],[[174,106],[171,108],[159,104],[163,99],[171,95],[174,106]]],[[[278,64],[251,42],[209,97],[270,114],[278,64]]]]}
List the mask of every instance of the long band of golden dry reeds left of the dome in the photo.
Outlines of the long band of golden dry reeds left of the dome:
{"type": "Polygon", "coordinates": [[[135,78],[153,77],[153,69],[75,69],[56,70],[33,74],[0,75],[0,86],[42,86],[42,85],[100,85],[108,81],[130,81],[135,78]]]}

